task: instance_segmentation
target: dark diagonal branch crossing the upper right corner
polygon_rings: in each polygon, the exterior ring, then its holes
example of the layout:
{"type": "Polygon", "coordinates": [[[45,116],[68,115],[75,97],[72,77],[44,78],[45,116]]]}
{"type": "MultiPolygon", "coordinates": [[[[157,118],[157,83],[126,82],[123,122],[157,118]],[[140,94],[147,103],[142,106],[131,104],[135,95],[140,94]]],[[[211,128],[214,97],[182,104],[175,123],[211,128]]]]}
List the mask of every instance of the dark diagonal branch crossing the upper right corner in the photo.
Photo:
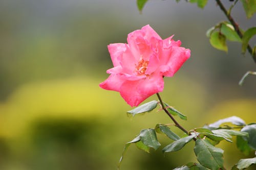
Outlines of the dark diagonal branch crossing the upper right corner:
{"type": "MultiPolygon", "coordinates": [[[[240,31],[238,24],[234,21],[233,17],[230,15],[230,11],[228,12],[226,10],[226,8],[223,6],[223,4],[221,3],[220,0],[216,0],[216,2],[219,5],[219,7],[221,8],[221,10],[224,12],[226,17],[228,18],[228,20],[231,23],[231,25],[234,27],[234,30],[237,32],[239,37],[242,39],[243,38],[243,33],[240,31]]],[[[247,50],[250,53],[253,61],[256,63],[256,54],[252,53],[252,48],[251,48],[251,46],[249,44],[247,45],[247,50]]]]}

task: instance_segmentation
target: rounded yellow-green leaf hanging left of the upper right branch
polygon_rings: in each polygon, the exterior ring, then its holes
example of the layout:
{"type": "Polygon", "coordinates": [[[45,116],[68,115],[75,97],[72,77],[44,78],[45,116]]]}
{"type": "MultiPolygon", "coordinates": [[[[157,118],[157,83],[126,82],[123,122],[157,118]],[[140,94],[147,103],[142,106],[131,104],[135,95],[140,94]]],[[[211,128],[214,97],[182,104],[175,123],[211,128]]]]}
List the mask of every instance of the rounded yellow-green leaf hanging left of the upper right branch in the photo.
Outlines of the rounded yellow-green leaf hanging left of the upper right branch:
{"type": "Polygon", "coordinates": [[[226,37],[219,32],[211,33],[210,44],[218,50],[227,52],[226,37]]]}

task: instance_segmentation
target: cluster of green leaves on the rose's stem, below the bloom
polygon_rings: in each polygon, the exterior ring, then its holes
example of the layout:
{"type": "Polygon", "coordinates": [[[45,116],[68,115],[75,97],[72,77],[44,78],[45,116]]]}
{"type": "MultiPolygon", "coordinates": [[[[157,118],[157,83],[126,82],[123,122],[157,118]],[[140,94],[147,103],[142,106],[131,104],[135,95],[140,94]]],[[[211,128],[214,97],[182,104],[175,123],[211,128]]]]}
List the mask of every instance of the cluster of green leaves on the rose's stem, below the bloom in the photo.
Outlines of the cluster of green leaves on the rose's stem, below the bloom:
{"type": "MultiPolygon", "coordinates": [[[[137,115],[154,110],[159,102],[151,101],[145,103],[127,114],[137,115]]],[[[173,107],[164,103],[170,114],[178,116],[181,119],[186,119],[186,116],[177,111],[173,107]]],[[[168,137],[172,142],[163,147],[163,153],[175,152],[181,150],[187,143],[195,141],[194,153],[198,162],[190,162],[175,169],[225,169],[223,166],[223,150],[216,147],[216,145],[224,140],[232,141],[232,136],[237,137],[237,147],[244,154],[248,155],[256,150],[256,124],[246,124],[243,119],[237,116],[231,116],[220,119],[215,123],[205,125],[201,128],[195,128],[188,131],[182,136],[174,133],[169,125],[157,124],[155,128],[143,129],[140,131],[132,141],[127,142],[124,146],[122,156],[120,158],[118,167],[120,167],[124,154],[132,143],[142,151],[150,153],[151,150],[157,150],[161,143],[158,141],[157,134],[162,134],[168,137]],[[230,126],[231,125],[231,126],[230,126]],[[238,129],[238,130],[237,130],[238,129]]],[[[241,159],[234,169],[245,169],[251,164],[255,164],[256,158],[241,159]]]]}

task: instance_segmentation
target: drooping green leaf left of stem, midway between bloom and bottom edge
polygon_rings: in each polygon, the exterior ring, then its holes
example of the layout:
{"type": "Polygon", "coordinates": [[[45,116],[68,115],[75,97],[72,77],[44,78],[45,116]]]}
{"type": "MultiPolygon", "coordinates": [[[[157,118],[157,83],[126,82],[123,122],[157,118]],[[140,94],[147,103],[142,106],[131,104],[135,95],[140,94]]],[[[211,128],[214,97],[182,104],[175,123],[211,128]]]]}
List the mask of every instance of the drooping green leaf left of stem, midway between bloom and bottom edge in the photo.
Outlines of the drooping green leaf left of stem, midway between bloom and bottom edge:
{"type": "Polygon", "coordinates": [[[157,140],[156,131],[154,129],[143,129],[140,131],[140,140],[147,147],[157,150],[160,147],[160,143],[157,140]]]}

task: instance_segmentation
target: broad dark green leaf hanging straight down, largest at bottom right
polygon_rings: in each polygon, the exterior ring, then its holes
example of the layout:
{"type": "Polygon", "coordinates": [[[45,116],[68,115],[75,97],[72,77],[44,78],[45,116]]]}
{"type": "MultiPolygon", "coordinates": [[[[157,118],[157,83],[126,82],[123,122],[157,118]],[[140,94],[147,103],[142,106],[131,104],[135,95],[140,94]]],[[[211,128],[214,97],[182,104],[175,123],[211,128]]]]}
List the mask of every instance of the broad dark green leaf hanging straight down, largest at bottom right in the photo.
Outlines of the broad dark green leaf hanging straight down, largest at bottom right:
{"type": "Polygon", "coordinates": [[[203,166],[212,170],[224,169],[222,149],[214,147],[207,140],[197,139],[194,151],[203,166]]]}

